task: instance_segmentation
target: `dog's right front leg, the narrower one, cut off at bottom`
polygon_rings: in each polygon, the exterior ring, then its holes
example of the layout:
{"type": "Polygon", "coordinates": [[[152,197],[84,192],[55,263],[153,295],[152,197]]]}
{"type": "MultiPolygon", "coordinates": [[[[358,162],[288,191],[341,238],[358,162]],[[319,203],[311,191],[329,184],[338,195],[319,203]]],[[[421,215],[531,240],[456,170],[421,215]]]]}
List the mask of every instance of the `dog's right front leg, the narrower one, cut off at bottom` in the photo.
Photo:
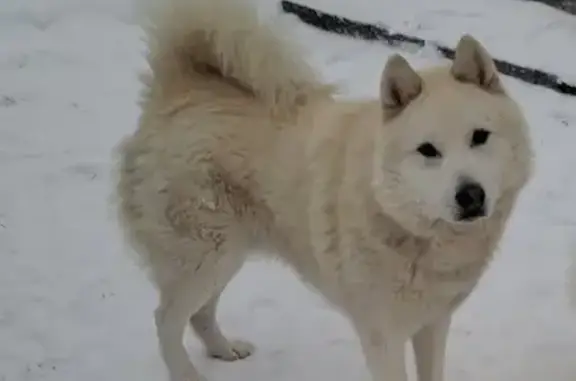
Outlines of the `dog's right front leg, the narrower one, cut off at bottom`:
{"type": "Polygon", "coordinates": [[[443,381],[451,316],[422,327],[413,337],[418,381],[443,381]]]}

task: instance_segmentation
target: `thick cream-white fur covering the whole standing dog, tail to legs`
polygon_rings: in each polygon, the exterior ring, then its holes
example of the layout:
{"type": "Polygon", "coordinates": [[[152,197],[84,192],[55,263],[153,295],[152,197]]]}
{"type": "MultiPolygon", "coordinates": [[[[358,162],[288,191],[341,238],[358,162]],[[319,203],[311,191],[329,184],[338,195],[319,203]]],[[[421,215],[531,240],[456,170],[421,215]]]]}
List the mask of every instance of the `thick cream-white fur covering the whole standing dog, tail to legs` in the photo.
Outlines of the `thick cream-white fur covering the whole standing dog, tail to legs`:
{"type": "Polygon", "coordinates": [[[188,322],[212,356],[252,352],[222,335],[215,310],[261,249],[349,317],[375,381],[406,381],[408,340],[420,381],[441,381],[451,314],[531,174],[524,118],[488,53],[464,36],[451,65],[422,72],[395,55],[378,99],[337,101],[240,0],[163,3],[118,192],[159,289],[171,380],[201,379],[182,343],[188,322]],[[491,134],[473,145],[475,129],[491,134]],[[424,143],[438,154],[423,157],[424,143]],[[454,194],[469,180],[486,211],[462,221],[454,194]]]}

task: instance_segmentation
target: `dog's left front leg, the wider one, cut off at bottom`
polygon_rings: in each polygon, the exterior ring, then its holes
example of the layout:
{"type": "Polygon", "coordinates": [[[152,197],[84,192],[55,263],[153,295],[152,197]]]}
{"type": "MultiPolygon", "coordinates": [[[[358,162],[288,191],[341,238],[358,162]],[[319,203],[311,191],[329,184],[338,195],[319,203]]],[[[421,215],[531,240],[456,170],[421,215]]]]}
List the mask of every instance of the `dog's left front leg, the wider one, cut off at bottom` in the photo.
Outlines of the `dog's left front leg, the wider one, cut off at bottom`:
{"type": "Polygon", "coordinates": [[[405,339],[386,335],[381,329],[360,328],[358,335],[374,381],[408,381],[405,339]]]}

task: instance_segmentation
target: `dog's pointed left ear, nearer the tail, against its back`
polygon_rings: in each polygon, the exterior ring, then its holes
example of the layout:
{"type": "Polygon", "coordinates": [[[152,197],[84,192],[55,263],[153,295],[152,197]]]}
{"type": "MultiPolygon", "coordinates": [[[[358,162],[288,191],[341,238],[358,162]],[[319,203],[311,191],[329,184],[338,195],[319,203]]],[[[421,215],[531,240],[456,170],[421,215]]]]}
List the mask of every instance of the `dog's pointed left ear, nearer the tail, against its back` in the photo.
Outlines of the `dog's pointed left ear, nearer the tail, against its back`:
{"type": "Polygon", "coordinates": [[[380,99],[385,115],[394,116],[422,92],[422,78],[400,55],[388,59],[380,81],[380,99]]]}

